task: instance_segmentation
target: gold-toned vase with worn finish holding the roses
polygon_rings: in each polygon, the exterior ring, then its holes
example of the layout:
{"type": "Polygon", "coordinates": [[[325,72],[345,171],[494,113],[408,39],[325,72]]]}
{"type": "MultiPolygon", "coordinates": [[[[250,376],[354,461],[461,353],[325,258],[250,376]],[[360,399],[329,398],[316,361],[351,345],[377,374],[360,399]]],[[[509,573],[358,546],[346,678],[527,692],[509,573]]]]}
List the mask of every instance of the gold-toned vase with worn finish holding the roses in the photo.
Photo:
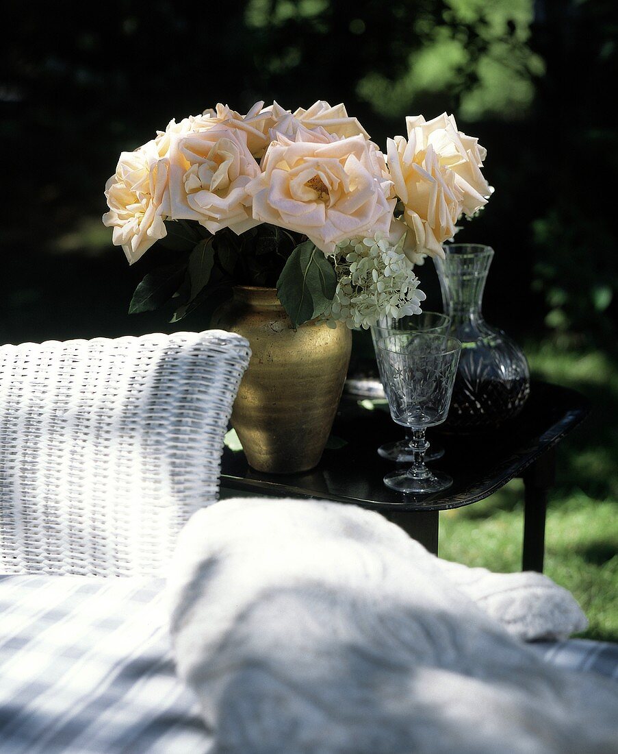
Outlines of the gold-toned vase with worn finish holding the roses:
{"type": "Polygon", "coordinates": [[[317,466],[346,382],[352,331],[313,320],[294,329],[275,288],[242,286],[212,326],[251,345],[231,418],[248,464],[269,474],[317,466]]]}

